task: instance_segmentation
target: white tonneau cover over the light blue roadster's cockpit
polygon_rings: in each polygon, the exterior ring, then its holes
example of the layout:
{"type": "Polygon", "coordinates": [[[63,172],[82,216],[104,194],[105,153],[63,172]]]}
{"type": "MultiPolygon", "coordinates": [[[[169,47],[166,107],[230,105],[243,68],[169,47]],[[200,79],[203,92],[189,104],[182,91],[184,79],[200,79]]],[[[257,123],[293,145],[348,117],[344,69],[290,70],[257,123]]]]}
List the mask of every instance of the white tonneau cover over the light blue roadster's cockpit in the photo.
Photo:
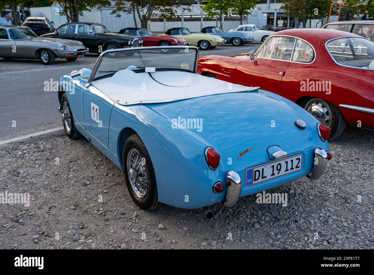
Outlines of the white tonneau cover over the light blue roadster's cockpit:
{"type": "Polygon", "coordinates": [[[92,84],[121,105],[164,103],[259,88],[184,71],[156,71],[151,76],[148,73],[120,70],[112,77],[96,80],[92,84]]]}

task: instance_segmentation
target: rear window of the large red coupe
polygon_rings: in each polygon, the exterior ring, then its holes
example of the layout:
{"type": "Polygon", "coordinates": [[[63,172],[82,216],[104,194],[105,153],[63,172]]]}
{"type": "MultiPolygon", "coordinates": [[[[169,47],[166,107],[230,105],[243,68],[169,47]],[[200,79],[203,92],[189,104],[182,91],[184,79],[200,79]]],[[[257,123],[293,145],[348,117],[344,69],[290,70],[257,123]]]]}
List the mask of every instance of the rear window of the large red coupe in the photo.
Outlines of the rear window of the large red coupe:
{"type": "Polygon", "coordinates": [[[361,37],[346,37],[327,43],[336,63],[363,69],[374,69],[374,43],[361,37]]]}

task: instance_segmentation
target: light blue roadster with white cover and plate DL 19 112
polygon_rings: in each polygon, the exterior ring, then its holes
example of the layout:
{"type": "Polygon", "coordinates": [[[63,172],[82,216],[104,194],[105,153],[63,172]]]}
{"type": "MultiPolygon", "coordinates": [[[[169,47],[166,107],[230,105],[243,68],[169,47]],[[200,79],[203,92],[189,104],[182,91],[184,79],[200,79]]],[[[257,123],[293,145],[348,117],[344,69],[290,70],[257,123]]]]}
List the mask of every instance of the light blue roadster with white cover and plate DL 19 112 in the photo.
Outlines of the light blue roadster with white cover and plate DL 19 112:
{"type": "Polygon", "coordinates": [[[279,95],[197,74],[198,55],[192,46],[113,49],[92,71],[62,75],[66,134],[122,169],[144,210],[165,203],[212,217],[210,205],[322,175],[327,126],[279,95]]]}

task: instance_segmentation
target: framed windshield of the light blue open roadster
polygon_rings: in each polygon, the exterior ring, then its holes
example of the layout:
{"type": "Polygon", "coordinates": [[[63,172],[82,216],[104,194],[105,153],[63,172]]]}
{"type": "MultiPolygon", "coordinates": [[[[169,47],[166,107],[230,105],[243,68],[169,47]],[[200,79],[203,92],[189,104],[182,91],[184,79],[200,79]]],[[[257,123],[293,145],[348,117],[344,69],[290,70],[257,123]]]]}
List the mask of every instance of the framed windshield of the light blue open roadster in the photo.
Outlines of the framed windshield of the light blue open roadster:
{"type": "Polygon", "coordinates": [[[111,76],[120,70],[144,72],[145,67],[157,70],[184,70],[194,73],[197,49],[183,46],[157,47],[156,49],[126,49],[107,52],[93,80],[111,76]]]}

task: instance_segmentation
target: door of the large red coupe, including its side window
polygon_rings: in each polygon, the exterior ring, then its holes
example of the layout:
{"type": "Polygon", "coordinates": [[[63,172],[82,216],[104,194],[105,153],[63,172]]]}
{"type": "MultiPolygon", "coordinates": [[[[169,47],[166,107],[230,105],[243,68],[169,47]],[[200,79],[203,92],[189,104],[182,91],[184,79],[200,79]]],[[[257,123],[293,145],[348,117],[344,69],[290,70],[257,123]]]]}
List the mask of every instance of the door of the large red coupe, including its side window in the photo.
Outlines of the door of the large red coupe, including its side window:
{"type": "Polygon", "coordinates": [[[254,62],[248,59],[236,66],[235,83],[260,86],[263,90],[279,94],[294,44],[294,37],[270,37],[255,53],[254,62]]]}

